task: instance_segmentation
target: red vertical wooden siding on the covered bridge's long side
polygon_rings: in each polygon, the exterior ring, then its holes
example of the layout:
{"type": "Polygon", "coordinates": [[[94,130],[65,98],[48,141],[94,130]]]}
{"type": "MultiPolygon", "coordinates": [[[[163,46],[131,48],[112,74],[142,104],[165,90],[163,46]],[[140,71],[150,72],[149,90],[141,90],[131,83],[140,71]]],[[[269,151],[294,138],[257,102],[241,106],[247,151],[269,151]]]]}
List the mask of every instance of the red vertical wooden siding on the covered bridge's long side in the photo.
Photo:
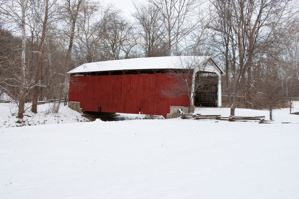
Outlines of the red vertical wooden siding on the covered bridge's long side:
{"type": "Polygon", "coordinates": [[[71,76],[69,101],[81,102],[84,111],[163,115],[170,106],[188,106],[189,98],[165,98],[167,74],[71,76]]]}

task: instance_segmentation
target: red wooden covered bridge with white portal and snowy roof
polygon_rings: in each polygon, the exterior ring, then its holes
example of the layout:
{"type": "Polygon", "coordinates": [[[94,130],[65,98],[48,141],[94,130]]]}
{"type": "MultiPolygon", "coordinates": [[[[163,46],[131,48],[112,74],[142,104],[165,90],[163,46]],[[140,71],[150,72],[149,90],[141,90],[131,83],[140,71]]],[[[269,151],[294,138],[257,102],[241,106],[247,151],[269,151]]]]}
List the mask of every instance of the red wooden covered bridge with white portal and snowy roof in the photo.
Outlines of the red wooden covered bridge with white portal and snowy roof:
{"type": "MultiPolygon", "coordinates": [[[[213,89],[194,97],[195,105],[221,106],[221,73],[223,71],[207,56],[171,56],[132,58],[83,64],[69,71],[69,102],[80,102],[82,112],[118,112],[163,115],[166,118],[170,106],[188,107],[188,95],[167,97],[167,90],[173,82],[170,73],[186,71],[184,64],[196,60],[196,74],[206,72],[216,77],[213,89]]],[[[193,81],[190,81],[193,82],[193,81]]],[[[192,85],[194,90],[194,83],[192,85]]]]}

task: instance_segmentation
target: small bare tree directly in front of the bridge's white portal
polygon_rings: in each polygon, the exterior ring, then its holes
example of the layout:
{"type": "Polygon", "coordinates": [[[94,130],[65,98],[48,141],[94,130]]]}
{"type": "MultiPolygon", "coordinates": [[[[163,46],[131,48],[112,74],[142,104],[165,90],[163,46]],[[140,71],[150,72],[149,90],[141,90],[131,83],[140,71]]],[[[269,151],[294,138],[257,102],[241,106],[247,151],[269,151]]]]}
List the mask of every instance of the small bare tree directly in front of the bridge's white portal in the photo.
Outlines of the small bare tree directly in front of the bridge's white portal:
{"type": "Polygon", "coordinates": [[[173,63],[176,69],[166,71],[170,82],[167,84],[167,88],[161,90],[161,93],[169,98],[187,95],[191,112],[194,113],[195,98],[201,92],[218,85],[220,77],[217,77],[218,72],[210,62],[210,59],[203,62],[203,58],[197,56],[180,57],[176,63],[173,63]]]}

